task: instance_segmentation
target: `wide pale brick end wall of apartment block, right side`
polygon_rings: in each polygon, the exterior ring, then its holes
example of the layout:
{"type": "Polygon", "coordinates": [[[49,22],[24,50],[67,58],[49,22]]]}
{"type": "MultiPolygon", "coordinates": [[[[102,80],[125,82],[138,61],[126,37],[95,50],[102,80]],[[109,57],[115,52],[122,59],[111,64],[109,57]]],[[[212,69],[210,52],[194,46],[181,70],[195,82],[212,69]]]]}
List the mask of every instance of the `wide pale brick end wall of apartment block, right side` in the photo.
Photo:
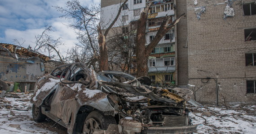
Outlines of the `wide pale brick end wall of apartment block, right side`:
{"type": "Polygon", "coordinates": [[[246,80],[256,80],[256,66],[245,66],[245,53],[256,51],[256,41],[245,42],[244,29],[256,27],[256,15],[243,16],[242,1],[234,0],[234,17],[223,19],[226,5],[224,0],[197,5],[187,0],[189,84],[196,85],[198,101],[255,103],[256,95],[246,93],[246,80]],[[194,8],[200,6],[206,12],[198,20],[194,8]]]}

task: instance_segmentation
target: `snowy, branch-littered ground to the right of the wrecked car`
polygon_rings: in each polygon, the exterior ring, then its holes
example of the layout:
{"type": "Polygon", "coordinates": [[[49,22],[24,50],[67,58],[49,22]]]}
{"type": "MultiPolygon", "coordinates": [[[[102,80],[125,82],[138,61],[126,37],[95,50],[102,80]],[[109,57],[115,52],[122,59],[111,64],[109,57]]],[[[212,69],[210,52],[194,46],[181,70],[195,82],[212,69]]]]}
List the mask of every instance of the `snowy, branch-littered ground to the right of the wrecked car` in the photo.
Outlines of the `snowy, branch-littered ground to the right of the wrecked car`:
{"type": "Polygon", "coordinates": [[[231,108],[204,105],[192,108],[197,134],[256,134],[256,105],[231,108]]]}

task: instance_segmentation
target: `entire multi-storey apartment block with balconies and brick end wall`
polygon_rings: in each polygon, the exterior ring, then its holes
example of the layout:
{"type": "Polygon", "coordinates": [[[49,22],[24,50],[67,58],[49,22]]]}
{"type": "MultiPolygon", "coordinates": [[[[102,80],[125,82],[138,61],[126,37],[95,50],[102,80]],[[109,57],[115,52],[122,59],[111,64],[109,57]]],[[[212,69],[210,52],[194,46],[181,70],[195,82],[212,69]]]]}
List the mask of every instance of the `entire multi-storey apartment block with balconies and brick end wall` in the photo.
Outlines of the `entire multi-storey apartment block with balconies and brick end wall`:
{"type": "MultiPolygon", "coordinates": [[[[101,1],[101,20],[113,19],[120,0],[101,1]]],[[[127,25],[138,20],[137,14],[144,10],[148,1],[128,0],[119,20],[127,25]]],[[[154,38],[161,17],[168,14],[175,19],[185,13],[150,55],[148,67],[152,80],[157,80],[160,68],[168,65],[172,70],[167,73],[172,75],[175,84],[190,84],[194,99],[199,102],[256,102],[255,0],[151,1],[145,45],[154,38]]],[[[120,26],[116,23],[114,28],[120,26]]]]}

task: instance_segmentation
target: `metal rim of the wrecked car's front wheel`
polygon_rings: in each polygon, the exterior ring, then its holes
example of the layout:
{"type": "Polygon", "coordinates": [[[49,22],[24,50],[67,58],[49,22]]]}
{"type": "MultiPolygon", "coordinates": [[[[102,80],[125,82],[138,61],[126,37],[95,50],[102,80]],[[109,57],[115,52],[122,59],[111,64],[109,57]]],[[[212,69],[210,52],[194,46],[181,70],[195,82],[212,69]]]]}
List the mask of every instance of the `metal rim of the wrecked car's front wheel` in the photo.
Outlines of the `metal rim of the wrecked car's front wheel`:
{"type": "Polygon", "coordinates": [[[94,130],[100,130],[99,123],[93,119],[89,118],[87,121],[85,121],[83,134],[93,134],[94,130]]]}

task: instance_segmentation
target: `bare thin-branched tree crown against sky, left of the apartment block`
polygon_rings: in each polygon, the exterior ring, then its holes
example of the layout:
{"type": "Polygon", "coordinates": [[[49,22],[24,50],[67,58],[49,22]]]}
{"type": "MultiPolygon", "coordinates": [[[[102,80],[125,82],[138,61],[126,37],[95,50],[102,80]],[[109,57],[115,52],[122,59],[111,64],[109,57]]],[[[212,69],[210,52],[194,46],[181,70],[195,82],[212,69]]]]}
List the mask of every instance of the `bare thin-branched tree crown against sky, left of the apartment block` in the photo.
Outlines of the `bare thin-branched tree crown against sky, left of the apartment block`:
{"type": "Polygon", "coordinates": [[[97,44],[97,23],[99,21],[100,6],[83,6],[79,0],[70,0],[66,3],[67,8],[58,7],[57,11],[64,13],[63,18],[72,19],[73,23],[69,27],[75,29],[79,43],[68,51],[69,61],[74,62],[79,59],[86,63],[88,67],[97,70],[99,60],[99,49],[97,44]],[[79,51],[79,52],[78,52],[79,51]]]}

